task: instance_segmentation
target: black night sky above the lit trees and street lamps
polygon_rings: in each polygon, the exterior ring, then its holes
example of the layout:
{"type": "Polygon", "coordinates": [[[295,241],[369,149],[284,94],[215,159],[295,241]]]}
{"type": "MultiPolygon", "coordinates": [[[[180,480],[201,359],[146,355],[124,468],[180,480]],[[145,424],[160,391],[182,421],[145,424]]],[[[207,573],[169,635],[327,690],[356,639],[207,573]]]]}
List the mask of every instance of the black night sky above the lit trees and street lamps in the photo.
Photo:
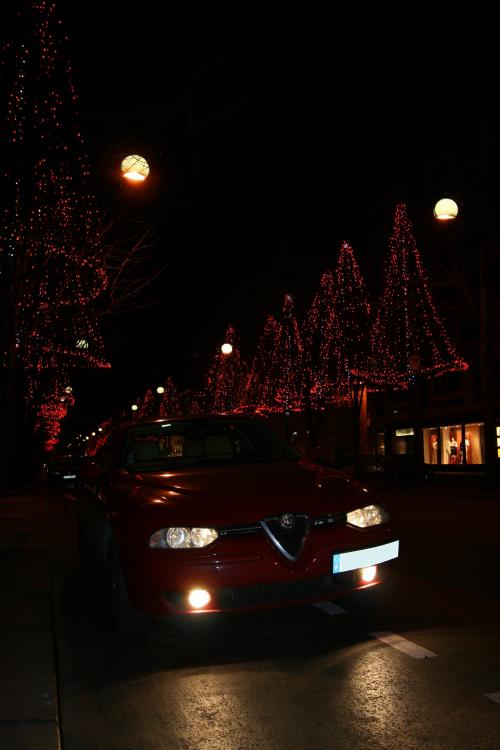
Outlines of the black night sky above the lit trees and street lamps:
{"type": "Polygon", "coordinates": [[[458,154],[498,119],[495,11],[477,4],[60,6],[96,193],[156,223],[166,264],[158,303],[106,324],[113,369],[75,379],[75,420],[90,390],[100,418],[162,376],[195,384],[227,323],[251,356],[343,239],[375,293],[395,204],[425,237],[458,154]],[[110,178],[123,150],[155,175],[137,205],[110,178]]]}

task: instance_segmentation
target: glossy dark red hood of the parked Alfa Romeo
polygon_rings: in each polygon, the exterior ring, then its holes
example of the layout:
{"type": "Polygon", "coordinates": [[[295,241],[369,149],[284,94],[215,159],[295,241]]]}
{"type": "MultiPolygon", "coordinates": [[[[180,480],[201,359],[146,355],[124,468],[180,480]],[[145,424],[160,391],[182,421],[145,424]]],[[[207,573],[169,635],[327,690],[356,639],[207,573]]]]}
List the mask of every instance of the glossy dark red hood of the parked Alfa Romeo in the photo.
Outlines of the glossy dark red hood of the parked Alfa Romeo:
{"type": "Polygon", "coordinates": [[[352,477],[305,461],[144,473],[132,486],[136,510],[139,505],[182,525],[227,526],[283,512],[321,515],[374,501],[352,477]]]}

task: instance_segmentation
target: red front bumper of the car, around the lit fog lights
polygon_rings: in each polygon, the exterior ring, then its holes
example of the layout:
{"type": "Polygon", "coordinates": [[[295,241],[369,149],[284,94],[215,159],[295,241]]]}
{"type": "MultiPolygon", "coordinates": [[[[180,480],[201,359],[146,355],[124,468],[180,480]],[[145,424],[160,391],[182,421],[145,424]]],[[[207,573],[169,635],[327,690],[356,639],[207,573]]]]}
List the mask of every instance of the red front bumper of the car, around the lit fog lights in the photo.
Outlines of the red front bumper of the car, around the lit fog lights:
{"type": "MultiPolygon", "coordinates": [[[[343,545],[339,551],[350,555],[355,549],[381,549],[380,545],[391,547],[395,542],[394,537],[380,534],[364,537],[363,541],[360,545],[358,537],[358,545],[343,545]]],[[[336,572],[335,548],[311,549],[295,563],[287,563],[275,551],[270,553],[268,545],[253,546],[246,552],[242,546],[240,541],[232,553],[227,551],[223,556],[160,552],[149,559],[147,567],[136,560],[130,568],[133,574],[126,576],[133,606],[145,614],[164,616],[307,604],[377,586],[394,563],[394,559],[376,560],[377,575],[366,583],[361,567],[336,572]],[[188,603],[188,594],[194,588],[210,593],[210,603],[202,610],[194,610],[188,603]]]]}

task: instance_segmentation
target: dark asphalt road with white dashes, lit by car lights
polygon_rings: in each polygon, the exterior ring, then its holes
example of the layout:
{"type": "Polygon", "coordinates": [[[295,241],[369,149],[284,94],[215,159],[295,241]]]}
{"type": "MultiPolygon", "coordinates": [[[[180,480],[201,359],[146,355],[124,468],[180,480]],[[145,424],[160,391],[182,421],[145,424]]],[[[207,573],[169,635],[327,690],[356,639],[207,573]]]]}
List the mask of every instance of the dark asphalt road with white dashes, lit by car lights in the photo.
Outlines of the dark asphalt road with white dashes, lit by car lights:
{"type": "Polygon", "coordinates": [[[500,502],[380,496],[401,531],[391,585],[302,607],[154,624],[117,643],[54,495],[64,750],[498,750],[500,502]]]}

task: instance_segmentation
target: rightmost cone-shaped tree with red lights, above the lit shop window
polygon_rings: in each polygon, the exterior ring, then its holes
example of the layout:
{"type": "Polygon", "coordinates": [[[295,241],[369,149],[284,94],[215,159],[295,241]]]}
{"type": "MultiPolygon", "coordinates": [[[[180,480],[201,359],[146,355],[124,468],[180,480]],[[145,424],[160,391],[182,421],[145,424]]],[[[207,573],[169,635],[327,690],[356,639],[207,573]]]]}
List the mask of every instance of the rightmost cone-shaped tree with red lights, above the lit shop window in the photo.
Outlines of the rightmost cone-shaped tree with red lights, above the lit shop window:
{"type": "Polygon", "coordinates": [[[359,373],[372,389],[405,389],[425,378],[467,369],[446,334],[429,288],[406,206],[394,215],[385,285],[371,331],[371,363],[359,373]]]}

